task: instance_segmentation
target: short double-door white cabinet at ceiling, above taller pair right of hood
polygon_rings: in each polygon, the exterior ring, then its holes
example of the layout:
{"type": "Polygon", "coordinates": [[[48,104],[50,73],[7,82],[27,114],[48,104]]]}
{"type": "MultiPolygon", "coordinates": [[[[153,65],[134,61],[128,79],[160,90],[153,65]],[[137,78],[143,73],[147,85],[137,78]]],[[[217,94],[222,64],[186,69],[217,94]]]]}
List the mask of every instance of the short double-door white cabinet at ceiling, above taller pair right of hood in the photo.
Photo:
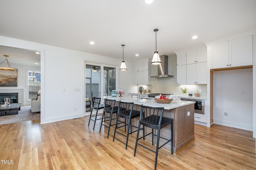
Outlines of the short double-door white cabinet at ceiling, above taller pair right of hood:
{"type": "Polygon", "coordinates": [[[206,61],[207,61],[206,48],[187,52],[187,64],[202,63],[206,61]]]}

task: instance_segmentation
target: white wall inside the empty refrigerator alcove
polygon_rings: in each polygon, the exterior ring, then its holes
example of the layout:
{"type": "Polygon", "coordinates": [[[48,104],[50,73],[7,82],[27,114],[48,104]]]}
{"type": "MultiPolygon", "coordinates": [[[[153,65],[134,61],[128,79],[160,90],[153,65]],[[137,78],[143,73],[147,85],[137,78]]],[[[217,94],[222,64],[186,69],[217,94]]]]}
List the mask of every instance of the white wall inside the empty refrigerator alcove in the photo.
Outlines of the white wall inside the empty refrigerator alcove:
{"type": "Polygon", "coordinates": [[[252,131],[252,68],[215,71],[213,101],[215,124],[252,131]]]}

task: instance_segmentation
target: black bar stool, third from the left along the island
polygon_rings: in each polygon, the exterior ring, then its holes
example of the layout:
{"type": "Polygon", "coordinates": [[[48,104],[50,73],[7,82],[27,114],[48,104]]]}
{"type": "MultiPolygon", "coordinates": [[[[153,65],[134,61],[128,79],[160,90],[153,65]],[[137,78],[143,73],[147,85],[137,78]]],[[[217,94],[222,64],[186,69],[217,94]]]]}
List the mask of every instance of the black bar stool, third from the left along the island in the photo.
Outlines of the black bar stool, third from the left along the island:
{"type": "MultiPolygon", "coordinates": [[[[133,102],[119,102],[118,105],[119,106],[118,106],[118,112],[117,112],[116,119],[118,120],[119,117],[124,118],[124,122],[121,122],[124,125],[117,127],[118,121],[116,121],[113,141],[115,139],[116,133],[119,133],[120,135],[125,136],[126,137],[125,149],[127,149],[129,134],[132,134],[132,133],[138,131],[138,129],[140,128],[140,127],[136,127],[136,126],[132,125],[132,119],[136,118],[136,117],[139,117],[140,116],[140,111],[133,110],[133,105],[134,105],[133,102]],[[124,129],[126,131],[126,120],[128,120],[128,128],[127,128],[127,134],[124,135],[123,133],[116,131],[116,129],[118,129],[120,127],[124,127],[124,129]],[[137,130],[136,131],[132,131],[132,127],[136,127],[137,130]]],[[[143,130],[143,135],[144,135],[144,130],[143,130]]]]}

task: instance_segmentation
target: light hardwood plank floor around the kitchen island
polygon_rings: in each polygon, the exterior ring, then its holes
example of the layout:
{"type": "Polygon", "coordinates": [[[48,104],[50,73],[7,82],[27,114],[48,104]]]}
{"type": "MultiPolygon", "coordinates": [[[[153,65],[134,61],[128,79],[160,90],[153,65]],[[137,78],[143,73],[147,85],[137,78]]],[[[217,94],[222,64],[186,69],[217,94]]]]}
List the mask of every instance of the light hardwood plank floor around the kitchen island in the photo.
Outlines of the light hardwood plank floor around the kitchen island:
{"type": "MultiPolygon", "coordinates": [[[[112,141],[114,126],[107,139],[107,130],[99,133],[99,125],[96,122],[93,131],[93,122],[88,127],[88,117],[43,125],[40,120],[0,125],[0,170],[154,169],[153,152],[138,146],[133,156],[135,135],[129,136],[125,150],[123,136],[116,134],[112,141]]],[[[160,149],[157,169],[256,169],[252,132],[195,125],[195,138],[177,155],[160,149]]]]}

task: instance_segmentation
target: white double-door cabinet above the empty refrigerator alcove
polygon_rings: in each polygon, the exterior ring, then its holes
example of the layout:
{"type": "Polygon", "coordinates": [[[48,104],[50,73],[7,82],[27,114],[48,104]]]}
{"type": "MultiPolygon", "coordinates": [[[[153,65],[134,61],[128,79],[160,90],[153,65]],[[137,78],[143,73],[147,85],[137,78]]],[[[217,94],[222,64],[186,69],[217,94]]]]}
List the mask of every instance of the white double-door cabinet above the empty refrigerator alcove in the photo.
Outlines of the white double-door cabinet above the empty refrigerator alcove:
{"type": "Polygon", "coordinates": [[[252,65],[252,36],[209,45],[211,68],[252,65]]]}

